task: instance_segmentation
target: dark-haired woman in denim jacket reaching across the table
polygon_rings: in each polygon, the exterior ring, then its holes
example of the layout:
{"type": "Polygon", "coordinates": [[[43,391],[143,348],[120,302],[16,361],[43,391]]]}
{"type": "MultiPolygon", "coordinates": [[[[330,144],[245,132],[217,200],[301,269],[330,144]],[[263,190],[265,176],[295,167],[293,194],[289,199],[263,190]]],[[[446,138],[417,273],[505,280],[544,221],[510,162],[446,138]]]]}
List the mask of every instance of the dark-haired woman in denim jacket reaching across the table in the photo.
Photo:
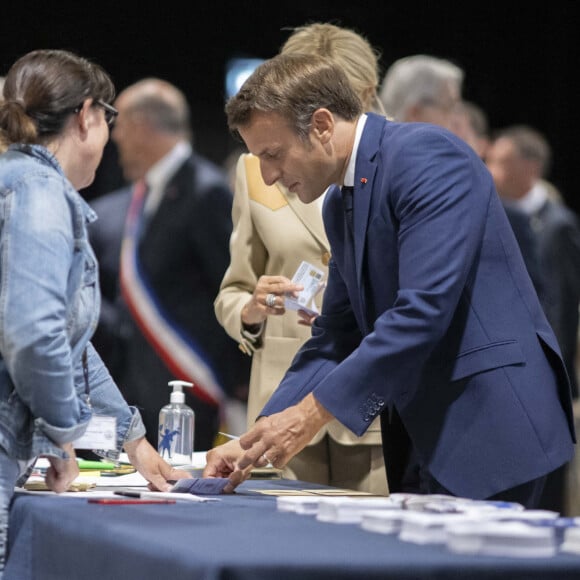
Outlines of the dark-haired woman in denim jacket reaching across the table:
{"type": "Polygon", "coordinates": [[[14,486],[38,456],[48,487],[78,475],[72,442],[92,415],[116,419],[124,449],[154,489],[187,477],[147,443],[89,342],[98,319],[96,216],[78,190],[94,179],[116,111],[109,76],[66,51],[20,58],[0,100],[0,577],[14,486]]]}

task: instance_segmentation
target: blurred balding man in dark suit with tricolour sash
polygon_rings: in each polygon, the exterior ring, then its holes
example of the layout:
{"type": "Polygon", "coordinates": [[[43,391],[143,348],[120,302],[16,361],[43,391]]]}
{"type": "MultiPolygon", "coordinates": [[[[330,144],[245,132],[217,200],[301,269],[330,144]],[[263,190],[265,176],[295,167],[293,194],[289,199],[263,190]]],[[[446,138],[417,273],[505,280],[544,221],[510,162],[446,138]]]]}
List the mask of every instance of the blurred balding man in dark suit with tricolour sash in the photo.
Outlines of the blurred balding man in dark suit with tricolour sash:
{"type": "Polygon", "coordinates": [[[249,364],[218,324],[213,300],[229,263],[227,176],[191,144],[185,95],[143,79],[118,96],[112,139],[129,187],[92,205],[91,242],[103,308],[96,348],[157,445],[168,381],[195,384],[195,448],[208,449],[229,398],[244,398],[249,364]]]}

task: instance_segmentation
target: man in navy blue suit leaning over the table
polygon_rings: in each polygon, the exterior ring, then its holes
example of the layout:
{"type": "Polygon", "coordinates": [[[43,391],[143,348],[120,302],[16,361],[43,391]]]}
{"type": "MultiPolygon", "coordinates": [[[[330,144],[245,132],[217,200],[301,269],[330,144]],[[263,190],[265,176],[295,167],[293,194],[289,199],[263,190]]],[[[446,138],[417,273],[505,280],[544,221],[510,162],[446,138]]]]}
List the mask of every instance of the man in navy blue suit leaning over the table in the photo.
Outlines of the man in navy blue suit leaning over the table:
{"type": "Polygon", "coordinates": [[[328,188],[332,260],[312,338],[205,475],[233,489],[332,418],[362,434],[380,415],[392,492],[536,505],[573,455],[570,385],[481,159],[441,127],[362,114],[312,57],[266,61],[226,113],[267,184],[305,203],[328,188]]]}

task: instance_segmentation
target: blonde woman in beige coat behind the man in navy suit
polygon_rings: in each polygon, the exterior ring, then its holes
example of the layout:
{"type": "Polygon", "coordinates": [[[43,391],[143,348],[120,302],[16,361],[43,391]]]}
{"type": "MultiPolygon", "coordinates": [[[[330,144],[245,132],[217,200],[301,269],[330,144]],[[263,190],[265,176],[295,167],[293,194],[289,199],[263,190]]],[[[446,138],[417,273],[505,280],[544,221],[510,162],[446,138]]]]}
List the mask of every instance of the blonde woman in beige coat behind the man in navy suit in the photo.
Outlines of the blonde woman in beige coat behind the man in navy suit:
{"type": "MultiPolygon", "coordinates": [[[[311,24],[296,29],[282,52],[316,53],[334,60],[347,73],[365,110],[382,112],[377,98],[378,56],[356,32],[311,24]]],[[[281,185],[267,186],[258,158],[248,154],[237,162],[234,190],[231,261],[215,312],[226,332],[253,357],[249,426],[311,334],[311,319],[284,309],[284,294],[296,290],[291,278],[302,261],[326,275],[330,248],[321,215],[324,196],[304,204],[281,185]],[[273,306],[266,304],[268,295],[273,295],[269,299],[273,306]]],[[[322,299],[320,293],[316,297],[319,309],[322,299]]],[[[387,495],[378,419],[363,437],[337,421],[329,423],[288,463],[284,476],[387,495]]]]}

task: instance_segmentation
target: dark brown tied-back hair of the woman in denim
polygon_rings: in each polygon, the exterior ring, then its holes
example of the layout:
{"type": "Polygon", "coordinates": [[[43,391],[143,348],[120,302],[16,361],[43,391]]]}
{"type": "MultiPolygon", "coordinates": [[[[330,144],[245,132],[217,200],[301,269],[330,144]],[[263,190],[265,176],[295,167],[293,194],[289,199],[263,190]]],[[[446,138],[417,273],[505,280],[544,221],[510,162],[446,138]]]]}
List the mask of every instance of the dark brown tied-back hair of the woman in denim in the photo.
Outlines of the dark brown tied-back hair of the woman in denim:
{"type": "Polygon", "coordinates": [[[3,92],[0,137],[5,144],[50,141],[85,99],[110,103],[115,98],[103,68],[65,50],[35,50],[19,58],[3,92]]]}

